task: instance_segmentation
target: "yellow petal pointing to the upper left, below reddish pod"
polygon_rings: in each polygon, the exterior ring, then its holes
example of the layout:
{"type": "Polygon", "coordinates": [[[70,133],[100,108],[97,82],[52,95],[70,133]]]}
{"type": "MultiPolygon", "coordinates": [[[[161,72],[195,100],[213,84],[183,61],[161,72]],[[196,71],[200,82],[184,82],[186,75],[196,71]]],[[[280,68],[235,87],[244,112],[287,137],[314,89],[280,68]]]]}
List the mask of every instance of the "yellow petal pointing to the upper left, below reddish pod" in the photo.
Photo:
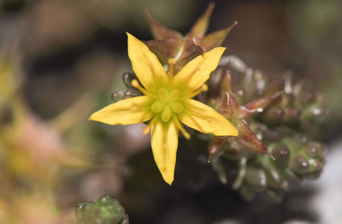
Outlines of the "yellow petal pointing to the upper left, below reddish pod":
{"type": "Polygon", "coordinates": [[[148,46],[129,33],[127,36],[128,57],[133,71],[147,91],[155,93],[158,87],[167,85],[168,75],[148,46]]]}

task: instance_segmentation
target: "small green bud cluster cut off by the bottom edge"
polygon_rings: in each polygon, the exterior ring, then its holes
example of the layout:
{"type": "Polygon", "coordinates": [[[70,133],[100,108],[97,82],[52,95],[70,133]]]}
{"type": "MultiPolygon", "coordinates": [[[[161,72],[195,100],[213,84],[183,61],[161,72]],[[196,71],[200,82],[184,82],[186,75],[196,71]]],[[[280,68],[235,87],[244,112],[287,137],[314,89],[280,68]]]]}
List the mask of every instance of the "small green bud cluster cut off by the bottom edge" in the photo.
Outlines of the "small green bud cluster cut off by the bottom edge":
{"type": "Polygon", "coordinates": [[[96,203],[76,204],[77,224],[128,224],[128,215],[119,200],[109,195],[101,196],[96,203]]]}

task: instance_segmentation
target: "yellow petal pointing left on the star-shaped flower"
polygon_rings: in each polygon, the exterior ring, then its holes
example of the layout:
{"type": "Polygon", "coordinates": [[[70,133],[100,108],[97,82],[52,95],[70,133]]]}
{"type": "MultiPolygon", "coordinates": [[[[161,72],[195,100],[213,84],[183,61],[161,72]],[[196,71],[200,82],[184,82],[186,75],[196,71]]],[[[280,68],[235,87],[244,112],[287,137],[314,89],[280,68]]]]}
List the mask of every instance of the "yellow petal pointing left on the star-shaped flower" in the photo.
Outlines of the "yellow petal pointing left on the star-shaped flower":
{"type": "Polygon", "coordinates": [[[154,115],[150,110],[152,102],[148,96],[128,98],[93,113],[89,120],[112,125],[146,122],[154,115]]]}

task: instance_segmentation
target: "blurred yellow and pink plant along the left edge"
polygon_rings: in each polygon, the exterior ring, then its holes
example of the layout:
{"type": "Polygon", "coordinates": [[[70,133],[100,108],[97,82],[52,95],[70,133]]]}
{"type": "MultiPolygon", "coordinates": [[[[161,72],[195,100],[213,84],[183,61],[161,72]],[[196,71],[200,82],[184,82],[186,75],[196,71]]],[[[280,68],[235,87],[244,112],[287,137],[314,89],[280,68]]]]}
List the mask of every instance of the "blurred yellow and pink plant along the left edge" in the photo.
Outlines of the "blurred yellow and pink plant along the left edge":
{"type": "Polygon", "coordinates": [[[70,127],[65,122],[73,125],[77,121],[73,114],[80,116],[91,101],[81,99],[60,117],[46,122],[22,97],[14,61],[6,58],[1,63],[6,64],[0,72],[1,222],[58,223],[56,193],[64,183],[61,172],[80,172],[90,166],[90,158],[64,142],[62,131],[70,127]]]}

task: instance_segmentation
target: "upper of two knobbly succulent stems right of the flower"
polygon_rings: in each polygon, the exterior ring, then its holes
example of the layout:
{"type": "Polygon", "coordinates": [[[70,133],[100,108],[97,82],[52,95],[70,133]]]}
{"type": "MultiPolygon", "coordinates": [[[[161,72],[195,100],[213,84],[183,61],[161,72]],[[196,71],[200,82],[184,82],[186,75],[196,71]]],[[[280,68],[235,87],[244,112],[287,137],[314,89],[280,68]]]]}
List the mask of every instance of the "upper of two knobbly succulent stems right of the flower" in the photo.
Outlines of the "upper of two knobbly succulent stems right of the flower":
{"type": "MultiPolygon", "coordinates": [[[[328,111],[324,96],[314,90],[312,81],[296,80],[289,71],[280,78],[271,79],[260,70],[247,67],[235,56],[223,58],[221,64],[228,64],[228,61],[239,77],[239,81],[234,83],[236,91],[233,92],[239,104],[281,92],[267,108],[261,108],[263,113],[258,116],[259,121],[270,127],[286,125],[311,136],[320,134],[320,125],[327,119],[328,111]]],[[[212,76],[213,84],[217,85],[214,80],[219,80],[222,71],[218,69],[212,76]]]]}

